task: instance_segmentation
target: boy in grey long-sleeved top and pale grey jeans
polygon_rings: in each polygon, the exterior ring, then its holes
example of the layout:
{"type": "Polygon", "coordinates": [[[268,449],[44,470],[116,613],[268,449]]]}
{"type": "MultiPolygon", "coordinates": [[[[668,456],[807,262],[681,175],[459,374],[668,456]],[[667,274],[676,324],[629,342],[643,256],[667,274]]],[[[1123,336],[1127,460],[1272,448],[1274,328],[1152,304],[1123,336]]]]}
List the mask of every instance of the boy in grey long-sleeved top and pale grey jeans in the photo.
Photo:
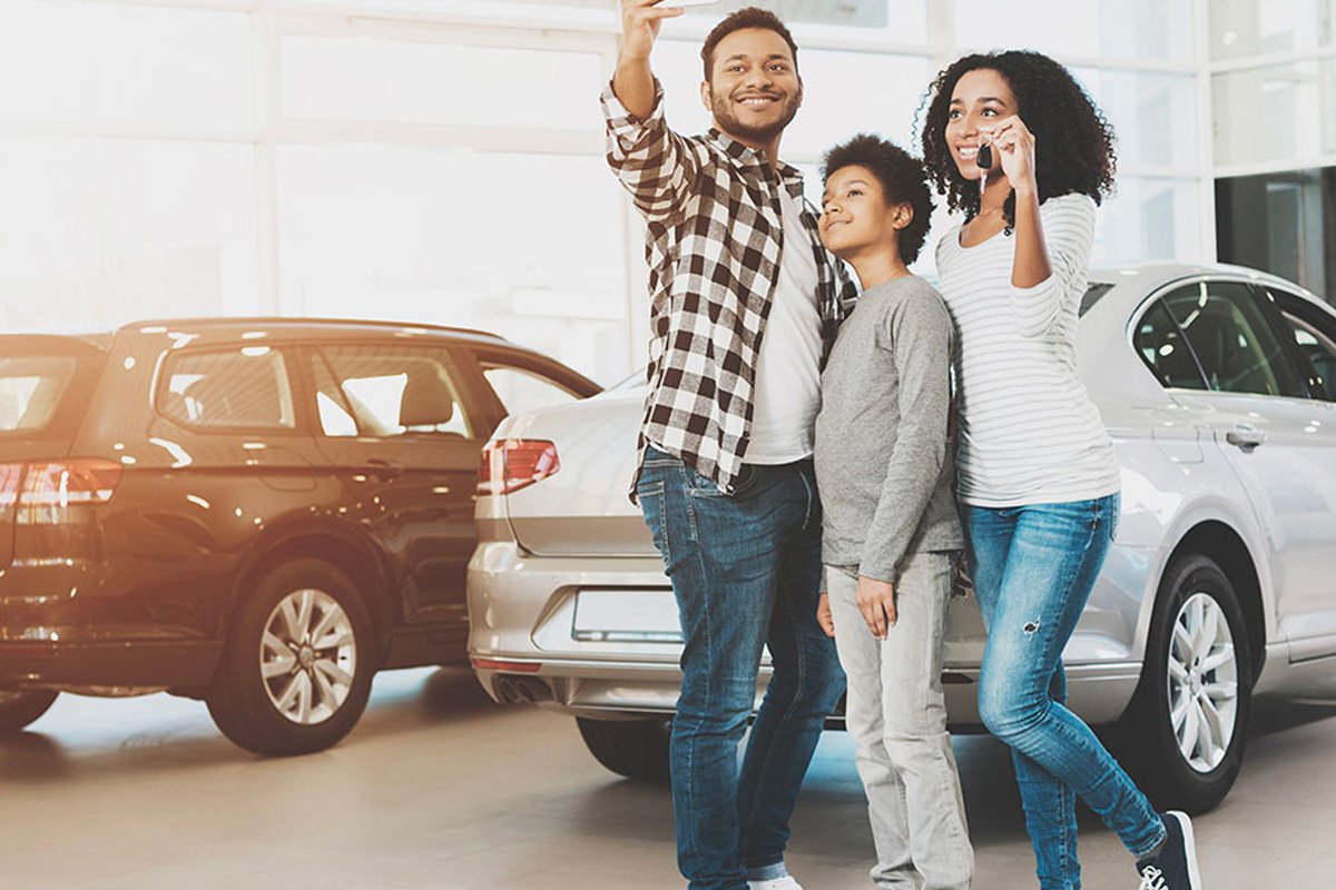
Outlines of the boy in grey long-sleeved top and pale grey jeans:
{"type": "Polygon", "coordinates": [[[942,636],[965,540],[951,492],[951,316],[908,270],[933,213],[923,165],[875,136],[826,155],[822,239],[863,284],[822,374],[820,620],[876,845],[872,885],[967,890],[974,870],[946,731],[942,636]]]}

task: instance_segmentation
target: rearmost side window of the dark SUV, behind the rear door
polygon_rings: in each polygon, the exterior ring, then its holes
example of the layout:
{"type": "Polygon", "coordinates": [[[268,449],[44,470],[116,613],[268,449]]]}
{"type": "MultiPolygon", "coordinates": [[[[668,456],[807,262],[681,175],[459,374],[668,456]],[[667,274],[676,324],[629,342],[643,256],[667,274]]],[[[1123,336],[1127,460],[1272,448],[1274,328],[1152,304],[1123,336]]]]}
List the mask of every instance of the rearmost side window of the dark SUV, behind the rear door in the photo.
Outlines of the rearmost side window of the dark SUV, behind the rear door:
{"type": "Polygon", "coordinates": [[[191,427],[297,426],[283,354],[267,346],[171,354],[158,391],[158,410],[191,427]]]}

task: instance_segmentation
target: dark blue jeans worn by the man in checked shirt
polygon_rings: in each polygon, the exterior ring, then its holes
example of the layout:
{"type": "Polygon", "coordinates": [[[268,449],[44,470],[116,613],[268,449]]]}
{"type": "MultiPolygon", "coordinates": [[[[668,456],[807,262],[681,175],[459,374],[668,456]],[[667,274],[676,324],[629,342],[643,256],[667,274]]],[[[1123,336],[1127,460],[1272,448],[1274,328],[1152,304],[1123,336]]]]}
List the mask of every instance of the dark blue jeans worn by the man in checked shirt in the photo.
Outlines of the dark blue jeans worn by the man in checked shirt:
{"type": "Polygon", "coordinates": [[[811,462],[748,471],[729,496],[649,448],[636,484],[685,638],[669,759],[677,866],[692,890],[745,890],[748,878],[786,874],[788,818],[844,691],[835,642],[816,623],[811,462]],[[775,673],[739,775],[763,646],[775,673]]]}

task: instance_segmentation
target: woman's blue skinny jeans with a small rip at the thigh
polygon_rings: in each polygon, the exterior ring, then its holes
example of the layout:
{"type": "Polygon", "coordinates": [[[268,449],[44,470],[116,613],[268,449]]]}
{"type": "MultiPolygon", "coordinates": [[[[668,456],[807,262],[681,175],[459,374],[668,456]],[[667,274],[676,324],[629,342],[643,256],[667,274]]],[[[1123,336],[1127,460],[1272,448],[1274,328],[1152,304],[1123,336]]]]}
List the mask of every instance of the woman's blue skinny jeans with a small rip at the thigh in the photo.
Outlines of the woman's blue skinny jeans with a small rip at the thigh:
{"type": "Polygon", "coordinates": [[[961,508],[989,628],[979,717],[1011,747],[1043,890],[1081,886],[1077,794],[1134,857],[1165,838],[1146,795],[1063,705],[1062,650],[1094,588],[1117,519],[1118,495],[961,508]]]}

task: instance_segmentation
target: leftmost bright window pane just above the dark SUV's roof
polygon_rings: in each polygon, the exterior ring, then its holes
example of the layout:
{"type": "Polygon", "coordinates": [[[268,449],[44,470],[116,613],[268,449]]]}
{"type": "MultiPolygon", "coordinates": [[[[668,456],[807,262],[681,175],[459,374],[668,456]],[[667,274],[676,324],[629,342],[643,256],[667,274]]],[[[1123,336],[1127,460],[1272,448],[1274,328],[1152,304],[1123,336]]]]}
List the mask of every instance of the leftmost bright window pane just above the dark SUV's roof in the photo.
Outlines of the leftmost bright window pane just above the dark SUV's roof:
{"type": "Polygon", "coordinates": [[[0,137],[0,327],[262,315],[248,145],[0,137]]]}

